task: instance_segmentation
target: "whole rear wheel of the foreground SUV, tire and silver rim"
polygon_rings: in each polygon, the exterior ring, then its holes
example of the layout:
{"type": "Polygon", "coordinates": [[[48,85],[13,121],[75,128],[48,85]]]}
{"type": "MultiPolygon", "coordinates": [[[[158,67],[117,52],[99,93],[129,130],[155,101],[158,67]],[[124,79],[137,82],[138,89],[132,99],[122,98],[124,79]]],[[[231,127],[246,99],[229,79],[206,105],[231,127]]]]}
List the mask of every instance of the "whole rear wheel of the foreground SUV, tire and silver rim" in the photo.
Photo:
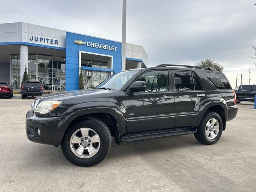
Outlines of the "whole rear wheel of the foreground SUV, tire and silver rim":
{"type": "Polygon", "coordinates": [[[204,116],[197,132],[194,134],[196,140],[202,144],[211,145],[216,143],[222,134],[223,123],[220,116],[215,112],[210,112],[204,116]]]}

